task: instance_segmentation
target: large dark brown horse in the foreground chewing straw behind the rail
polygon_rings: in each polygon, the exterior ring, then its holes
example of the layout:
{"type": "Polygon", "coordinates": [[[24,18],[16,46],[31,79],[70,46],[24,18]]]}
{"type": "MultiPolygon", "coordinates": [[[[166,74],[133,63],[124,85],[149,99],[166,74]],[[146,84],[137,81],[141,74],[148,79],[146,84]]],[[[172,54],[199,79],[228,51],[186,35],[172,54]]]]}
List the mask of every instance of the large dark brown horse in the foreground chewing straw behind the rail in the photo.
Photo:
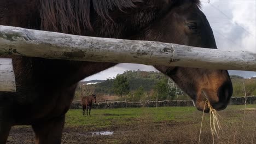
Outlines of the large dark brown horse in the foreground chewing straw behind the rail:
{"type": "MultiPolygon", "coordinates": [[[[199,7],[199,0],[1,0],[0,25],[217,49],[199,7]]],[[[0,143],[11,126],[22,124],[32,125],[36,143],[61,143],[77,83],[116,64],[0,57],[13,58],[17,89],[0,92],[0,143]]],[[[154,67],[171,77],[197,109],[203,110],[206,99],[216,110],[228,105],[232,83],[227,70],[154,67]]]]}

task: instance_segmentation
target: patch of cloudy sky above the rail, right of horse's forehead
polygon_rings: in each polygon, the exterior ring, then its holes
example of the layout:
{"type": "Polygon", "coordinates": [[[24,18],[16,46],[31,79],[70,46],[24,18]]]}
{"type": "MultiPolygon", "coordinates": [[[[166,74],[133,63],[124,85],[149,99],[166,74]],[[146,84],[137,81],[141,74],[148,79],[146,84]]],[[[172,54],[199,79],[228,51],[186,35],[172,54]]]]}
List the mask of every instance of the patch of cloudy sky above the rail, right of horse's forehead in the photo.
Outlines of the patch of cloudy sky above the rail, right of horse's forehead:
{"type": "Polygon", "coordinates": [[[256,1],[202,3],[219,49],[256,52],[256,1]]]}

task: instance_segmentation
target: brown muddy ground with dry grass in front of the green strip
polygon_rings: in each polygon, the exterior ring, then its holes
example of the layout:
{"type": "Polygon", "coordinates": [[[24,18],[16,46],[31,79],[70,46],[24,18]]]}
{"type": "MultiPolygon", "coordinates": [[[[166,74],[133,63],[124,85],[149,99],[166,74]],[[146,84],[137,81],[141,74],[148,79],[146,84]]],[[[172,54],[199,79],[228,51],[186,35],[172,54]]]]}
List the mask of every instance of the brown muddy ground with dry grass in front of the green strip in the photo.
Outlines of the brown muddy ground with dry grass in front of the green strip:
{"type": "MultiPolygon", "coordinates": [[[[199,121],[198,121],[199,122],[199,121]]],[[[200,123],[200,122],[199,122],[200,123]]],[[[214,137],[214,143],[255,143],[256,125],[252,129],[242,128],[241,123],[223,128],[219,138],[214,137]],[[236,127],[236,125],[239,125],[236,127]]],[[[200,125],[197,122],[161,122],[138,124],[134,127],[120,127],[109,129],[95,129],[86,131],[85,127],[66,127],[63,131],[62,143],[88,143],[88,144],[176,144],[199,143],[200,125]],[[113,135],[93,134],[97,131],[113,131],[113,135]]],[[[34,134],[31,127],[14,127],[10,131],[8,144],[34,143],[34,134]]],[[[203,125],[200,143],[213,143],[209,125],[203,125]]]]}

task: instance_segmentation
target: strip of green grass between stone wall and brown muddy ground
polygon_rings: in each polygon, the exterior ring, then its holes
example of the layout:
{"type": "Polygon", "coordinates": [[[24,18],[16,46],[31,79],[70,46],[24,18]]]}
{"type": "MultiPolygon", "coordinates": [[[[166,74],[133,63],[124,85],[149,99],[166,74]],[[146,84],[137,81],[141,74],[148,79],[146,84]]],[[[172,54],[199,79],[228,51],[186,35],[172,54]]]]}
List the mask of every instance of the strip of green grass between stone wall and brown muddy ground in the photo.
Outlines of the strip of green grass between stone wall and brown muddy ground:
{"type": "MultiPolygon", "coordinates": [[[[247,109],[251,112],[252,108],[256,109],[256,105],[247,105],[247,109]]],[[[224,111],[220,111],[220,115],[232,113],[232,120],[236,121],[243,117],[243,105],[230,105],[224,111]]],[[[108,128],[113,125],[133,125],[144,116],[150,117],[153,122],[191,122],[202,117],[202,112],[197,111],[195,107],[143,107],[130,109],[92,109],[91,116],[82,116],[82,110],[69,110],[66,114],[66,126],[78,127],[86,126],[87,129],[108,128]]],[[[205,118],[209,120],[210,115],[207,113],[205,118]]],[[[231,118],[230,117],[230,118],[231,118]]],[[[225,117],[228,118],[228,117],[225,117]]],[[[256,119],[255,119],[256,122],[256,119]]]]}

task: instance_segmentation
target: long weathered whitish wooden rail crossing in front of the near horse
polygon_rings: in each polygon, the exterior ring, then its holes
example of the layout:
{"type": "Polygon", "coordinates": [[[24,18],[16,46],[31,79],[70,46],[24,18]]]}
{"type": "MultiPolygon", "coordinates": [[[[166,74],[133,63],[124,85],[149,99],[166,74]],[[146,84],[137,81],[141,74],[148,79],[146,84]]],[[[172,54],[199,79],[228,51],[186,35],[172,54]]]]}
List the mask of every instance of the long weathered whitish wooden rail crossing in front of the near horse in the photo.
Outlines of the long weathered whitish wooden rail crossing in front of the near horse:
{"type": "Polygon", "coordinates": [[[1,53],[74,61],[256,71],[256,53],[252,52],[84,37],[9,26],[0,26],[1,53]]]}

